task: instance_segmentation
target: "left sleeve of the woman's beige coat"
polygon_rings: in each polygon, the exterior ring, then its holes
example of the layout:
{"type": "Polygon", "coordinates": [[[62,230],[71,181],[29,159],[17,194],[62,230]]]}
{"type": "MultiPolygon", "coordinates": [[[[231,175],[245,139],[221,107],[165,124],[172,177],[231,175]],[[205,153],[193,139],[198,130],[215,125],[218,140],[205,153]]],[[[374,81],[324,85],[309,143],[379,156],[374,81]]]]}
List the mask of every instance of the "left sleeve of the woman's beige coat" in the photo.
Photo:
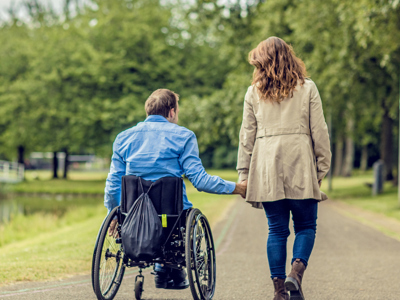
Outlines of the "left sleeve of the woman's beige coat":
{"type": "Polygon", "coordinates": [[[239,181],[246,180],[249,174],[251,155],[257,134],[257,119],[250,101],[251,87],[247,90],[243,104],[243,121],[239,133],[238,162],[236,169],[239,181]]]}

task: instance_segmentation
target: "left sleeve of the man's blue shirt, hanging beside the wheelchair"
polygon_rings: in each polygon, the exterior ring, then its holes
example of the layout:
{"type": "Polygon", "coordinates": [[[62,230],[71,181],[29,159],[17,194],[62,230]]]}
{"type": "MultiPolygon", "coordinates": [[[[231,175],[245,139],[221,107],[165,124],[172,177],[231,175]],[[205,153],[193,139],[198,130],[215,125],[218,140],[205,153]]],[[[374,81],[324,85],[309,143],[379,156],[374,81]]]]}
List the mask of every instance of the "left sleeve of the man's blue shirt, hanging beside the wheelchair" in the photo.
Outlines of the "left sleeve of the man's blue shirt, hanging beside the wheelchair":
{"type": "Polygon", "coordinates": [[[121,202],[121,180],[126,173],[126,162],[118,153],[118,146],[117,137],[113,144],[110,172],[104,189],[104,206],[108,209],[108,213],[121,202]]]}

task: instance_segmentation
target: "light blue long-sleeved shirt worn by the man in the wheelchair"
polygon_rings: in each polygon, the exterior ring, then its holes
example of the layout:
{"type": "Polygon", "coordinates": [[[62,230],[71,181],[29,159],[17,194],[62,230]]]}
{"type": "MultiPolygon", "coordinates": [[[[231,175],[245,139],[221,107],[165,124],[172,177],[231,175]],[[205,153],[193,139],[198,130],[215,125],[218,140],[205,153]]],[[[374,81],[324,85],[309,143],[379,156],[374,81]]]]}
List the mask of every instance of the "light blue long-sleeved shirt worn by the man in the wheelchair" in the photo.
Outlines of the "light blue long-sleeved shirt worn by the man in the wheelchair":
{"type": "MultiPolygon", "coordinates": [[[[163,116],[151,115],[144,122],[121,132],[115,139],[104,205],[110,212],[120,204],[123,175],[156,181],[161,177],[181,177],[183,174],[199,191],[231,194],[235,189],[234,182],[206,173],[192,131],[169,122],[163,116]]],[[[183,184],[183,208],[190,207],[192,203],[183,184]]]]}

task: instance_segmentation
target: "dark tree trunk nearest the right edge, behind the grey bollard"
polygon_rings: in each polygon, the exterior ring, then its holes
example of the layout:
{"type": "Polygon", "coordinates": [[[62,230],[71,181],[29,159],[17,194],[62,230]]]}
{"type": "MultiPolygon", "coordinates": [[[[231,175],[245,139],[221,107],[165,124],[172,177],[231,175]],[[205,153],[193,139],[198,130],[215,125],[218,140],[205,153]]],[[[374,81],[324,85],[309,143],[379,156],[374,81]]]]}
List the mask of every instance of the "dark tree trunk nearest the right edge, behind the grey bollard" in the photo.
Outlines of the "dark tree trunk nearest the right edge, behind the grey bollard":
{"type": "Polygon", "coordinates": [[[384,108],[381,131],[381,159],[385,164],[385,180],[393,179],[393,120],[389,116],[389,110],[384,108]]]}

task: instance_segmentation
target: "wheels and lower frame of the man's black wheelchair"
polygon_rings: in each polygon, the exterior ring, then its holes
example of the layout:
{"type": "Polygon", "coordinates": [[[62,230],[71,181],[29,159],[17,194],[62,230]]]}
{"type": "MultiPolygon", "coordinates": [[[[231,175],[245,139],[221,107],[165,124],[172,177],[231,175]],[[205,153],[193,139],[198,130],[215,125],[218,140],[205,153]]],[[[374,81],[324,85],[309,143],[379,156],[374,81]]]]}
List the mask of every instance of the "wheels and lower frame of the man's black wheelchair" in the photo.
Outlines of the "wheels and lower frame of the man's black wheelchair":
{"type": "Polygon", "coordinates": [[[126,267],[138,268],[134,291],[135,298],[140,300],[144,283],[142,270],[154,266],[155,263],[179,270],[186,267],[193,299],[213,298],[216,254],[207,218],[196,208],[182,211],[179,215],[167,215],[167,218],[176,220],[162,246],[162,256],[150,261],[133,261],[124,254],[120,238],[125,215],[119,206],[108,214],[100,227],[92,260],[92,285],[99,300],[111,300],[115,297],[126,267]],[[118,220],[116,234],[109,235],[109,226],[115,218],[118,220]]]}

